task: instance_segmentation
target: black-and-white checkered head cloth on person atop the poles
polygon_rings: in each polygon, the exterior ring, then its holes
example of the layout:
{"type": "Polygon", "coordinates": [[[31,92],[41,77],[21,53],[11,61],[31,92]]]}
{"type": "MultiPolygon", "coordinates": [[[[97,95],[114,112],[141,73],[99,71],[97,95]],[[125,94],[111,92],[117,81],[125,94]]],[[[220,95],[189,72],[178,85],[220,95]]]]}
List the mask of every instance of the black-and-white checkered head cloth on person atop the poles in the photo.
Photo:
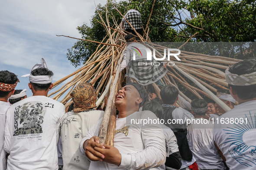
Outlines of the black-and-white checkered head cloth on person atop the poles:
{"type": "MultiPolygon", "coordinates": [[[[133,25],[134,29],[142,29],[142,22],[140,16],[136,12],[127,13],[126,20],[133,25]]],[[[133,29],[128,22],[124,22],[124,29],[133,29]]]]}

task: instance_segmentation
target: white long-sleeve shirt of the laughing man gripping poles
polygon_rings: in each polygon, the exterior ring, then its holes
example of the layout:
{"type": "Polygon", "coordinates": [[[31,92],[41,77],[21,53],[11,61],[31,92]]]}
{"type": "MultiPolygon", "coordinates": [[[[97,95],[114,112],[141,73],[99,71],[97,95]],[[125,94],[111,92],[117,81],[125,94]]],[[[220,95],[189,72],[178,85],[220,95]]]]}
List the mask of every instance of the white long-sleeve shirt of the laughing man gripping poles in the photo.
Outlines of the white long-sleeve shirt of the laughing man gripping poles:
{"type": "MultiPolygon", "coordinates": [[[[126,118],[117,118],[116,130],[114,136],[114,147],[122,155],[119,167],[106,162],[91,161],[89,170],[135,170],[150,169],[165,164],[165,135],[161,124],[136,124],[133,120],[156,119],[154,113],[145,110],[135,112],[126,118]],[[133,123],[133,124],[131,124],[133,123]]],[[[100,119],[81,140],[79,148],[80,153],[84,153],[83,144],[87,139],[97,136],[100,119]]]]}

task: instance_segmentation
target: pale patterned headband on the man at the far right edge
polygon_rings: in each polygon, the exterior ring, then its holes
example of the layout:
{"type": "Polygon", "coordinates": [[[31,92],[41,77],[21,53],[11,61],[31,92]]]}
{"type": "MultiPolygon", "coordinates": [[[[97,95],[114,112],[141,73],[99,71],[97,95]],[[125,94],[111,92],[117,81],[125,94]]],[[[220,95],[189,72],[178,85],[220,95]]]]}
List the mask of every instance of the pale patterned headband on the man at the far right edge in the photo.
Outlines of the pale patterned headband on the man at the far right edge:
{"type": "Polygon", "coordinates": [[[228,71],[225,71],[226,82],[230,85],[246,86],[246,85],[256,85],[256,72],[250,74],[243,74],[238,76],[228,71]]]}

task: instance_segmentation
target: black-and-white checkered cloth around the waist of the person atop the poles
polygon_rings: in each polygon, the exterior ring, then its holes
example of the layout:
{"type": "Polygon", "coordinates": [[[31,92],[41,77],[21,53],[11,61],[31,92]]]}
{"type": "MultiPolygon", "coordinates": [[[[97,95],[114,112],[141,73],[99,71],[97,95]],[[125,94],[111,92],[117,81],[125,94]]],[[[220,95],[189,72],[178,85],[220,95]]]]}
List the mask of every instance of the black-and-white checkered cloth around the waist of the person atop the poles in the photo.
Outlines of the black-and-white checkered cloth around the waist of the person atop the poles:
{"type": "Polygon", "coordinates": [[[127,76],[135,79],[140,85],[150,85],[157,82],[165,76],[168,70],[163,66],[153,66],[153,63],[156,62],[156,60],[149,62],[146,59],[130,60],[127,76]],[[138,66],[139,62],[148,63],[148,65],[138,66]],[[152,66],[149,63],[152,63],[152,66]]]}

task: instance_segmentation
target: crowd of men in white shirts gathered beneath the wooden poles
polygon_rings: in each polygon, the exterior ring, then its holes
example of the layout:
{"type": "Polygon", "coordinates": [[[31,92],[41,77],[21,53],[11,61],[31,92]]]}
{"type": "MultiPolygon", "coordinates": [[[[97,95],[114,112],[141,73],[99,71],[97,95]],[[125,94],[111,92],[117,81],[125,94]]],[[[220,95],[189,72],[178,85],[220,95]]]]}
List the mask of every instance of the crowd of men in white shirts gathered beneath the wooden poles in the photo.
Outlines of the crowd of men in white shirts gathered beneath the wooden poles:
{"type": "Polygon", "coordinates": [[[47,97],[53,73],[45,60],[25,76],[33,94],[28,98],[26,89],[15,90],[19,79],[14,73],[0,71],[1,170],[256,169],[255,59],[226,70],[229,91],[218,91],[217,97],[228,112],[214,101],[189,103],[172,85],[161,89],[161,99],[151,93],[149,100],[143,85],[126,83],[115,95],[114,146],[97,137],[104,111],[97,110],[90,83],[73,89],[73,107],[65,113],[63,104],[47,97]],[[158,119],[195,121],[136,122],[158,119]]]}

